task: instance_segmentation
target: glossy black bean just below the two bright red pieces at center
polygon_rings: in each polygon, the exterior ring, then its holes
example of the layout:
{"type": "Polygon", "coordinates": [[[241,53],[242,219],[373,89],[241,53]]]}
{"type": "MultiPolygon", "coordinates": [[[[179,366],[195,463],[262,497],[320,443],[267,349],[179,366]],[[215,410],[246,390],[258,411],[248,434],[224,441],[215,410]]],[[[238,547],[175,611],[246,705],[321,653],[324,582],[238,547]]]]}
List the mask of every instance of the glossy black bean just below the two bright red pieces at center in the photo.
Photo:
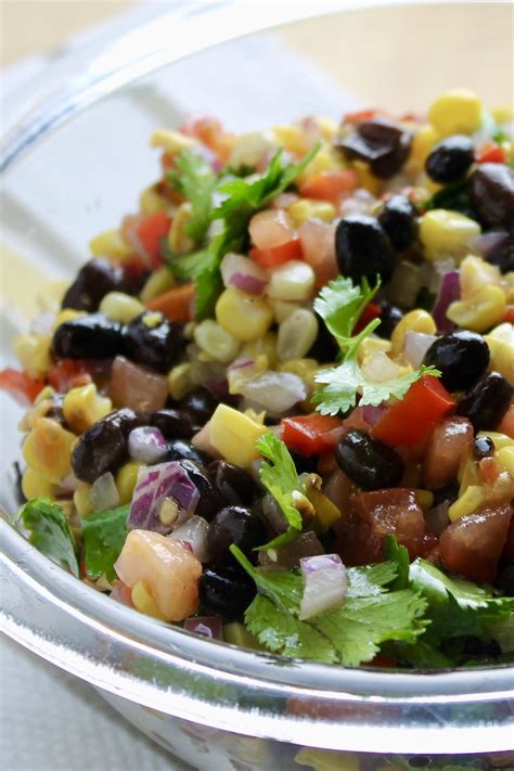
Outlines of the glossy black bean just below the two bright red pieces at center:
{"type": "Polygon", "coordinates": [[[395,487],[403,476],[404,463],[395,450],[363,431],[347,432],[336,445],[335,459],[351,481],[364,490],[395,487]]]}

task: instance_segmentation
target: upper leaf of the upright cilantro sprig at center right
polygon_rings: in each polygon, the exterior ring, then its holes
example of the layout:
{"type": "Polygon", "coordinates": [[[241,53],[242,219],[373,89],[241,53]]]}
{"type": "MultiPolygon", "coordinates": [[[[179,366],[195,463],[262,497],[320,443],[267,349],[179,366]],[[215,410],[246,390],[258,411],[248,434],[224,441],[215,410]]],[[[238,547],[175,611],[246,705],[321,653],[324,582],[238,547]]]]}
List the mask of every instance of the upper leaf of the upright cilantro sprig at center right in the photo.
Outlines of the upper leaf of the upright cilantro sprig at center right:
{"type": "Polygon", "coordinates": [[[324,286],[314,300],[314,310],[320,316],[340,347],[349,344],[354,327],[368,303],[378,292],[381,282],[370,288],[368,280],[362,279],[361,286],[356,286],[351,279],[339,277],[324,286]]]}

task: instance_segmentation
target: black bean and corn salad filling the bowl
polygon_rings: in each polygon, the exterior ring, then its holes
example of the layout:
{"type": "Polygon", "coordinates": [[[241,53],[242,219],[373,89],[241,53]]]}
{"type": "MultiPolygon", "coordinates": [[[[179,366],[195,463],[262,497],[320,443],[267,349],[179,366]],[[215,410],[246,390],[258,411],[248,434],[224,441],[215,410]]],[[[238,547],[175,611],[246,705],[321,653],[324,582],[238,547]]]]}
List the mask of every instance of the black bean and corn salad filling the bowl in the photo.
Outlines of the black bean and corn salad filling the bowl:
{"type": "Polygon", "coordinates": [[[14,339],[17,526],[117,602],[292,657],[514,651],[513,113],[472,91],[235,136],[14,339]]]}

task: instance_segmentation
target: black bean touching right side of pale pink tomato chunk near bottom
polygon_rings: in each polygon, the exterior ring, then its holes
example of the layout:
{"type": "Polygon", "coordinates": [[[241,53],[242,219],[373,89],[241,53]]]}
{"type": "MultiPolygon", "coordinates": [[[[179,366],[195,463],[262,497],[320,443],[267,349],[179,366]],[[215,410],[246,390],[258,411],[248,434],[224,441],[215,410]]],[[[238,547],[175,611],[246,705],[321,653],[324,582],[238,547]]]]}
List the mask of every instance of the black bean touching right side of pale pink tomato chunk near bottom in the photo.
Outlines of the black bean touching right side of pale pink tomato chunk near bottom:
{"type": "Polygon", "coordinates": [[[255,583],[234,567],[208,567],[200,577],[200,602],[207,614],[239,620],[255,597],[255,583]]]}

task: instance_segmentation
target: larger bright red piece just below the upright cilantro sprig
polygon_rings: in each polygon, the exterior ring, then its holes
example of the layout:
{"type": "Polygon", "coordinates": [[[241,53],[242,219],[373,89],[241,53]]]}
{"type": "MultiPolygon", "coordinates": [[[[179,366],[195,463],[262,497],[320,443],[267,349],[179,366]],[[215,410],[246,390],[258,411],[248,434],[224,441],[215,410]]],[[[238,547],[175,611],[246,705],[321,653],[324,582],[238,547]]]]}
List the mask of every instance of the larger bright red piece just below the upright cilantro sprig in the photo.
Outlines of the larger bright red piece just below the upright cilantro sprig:
{"type": "Polygon", "coordinates": [[[409,388],[403,399],[387,409],[372,427],[371,435],[391,447],[413,447],[455,403],[436,377],[424,375],[409,388]]]}

